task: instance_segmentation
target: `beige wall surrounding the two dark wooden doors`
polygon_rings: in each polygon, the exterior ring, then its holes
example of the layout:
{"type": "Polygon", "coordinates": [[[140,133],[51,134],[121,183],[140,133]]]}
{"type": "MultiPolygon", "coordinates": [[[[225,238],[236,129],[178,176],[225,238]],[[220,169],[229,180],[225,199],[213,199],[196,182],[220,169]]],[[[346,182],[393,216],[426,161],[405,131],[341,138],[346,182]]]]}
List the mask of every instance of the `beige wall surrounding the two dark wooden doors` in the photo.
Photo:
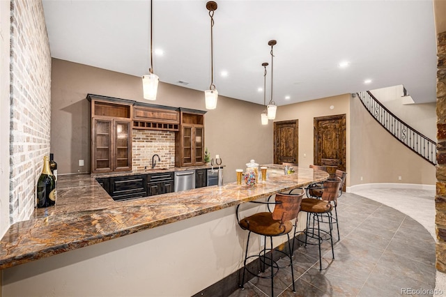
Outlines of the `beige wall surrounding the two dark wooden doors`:
{"type": "MultiPolygon", "coordinates": [[[[350,94],[277,107],[275,121],[299,120],[299,166],[307,168],[314,163],[314,118],[335,114],[346,114],[346,172],[350,172],[350,94]]],[[[350,185],[349,178],[350,174],[346,185],[350,185]]]]}

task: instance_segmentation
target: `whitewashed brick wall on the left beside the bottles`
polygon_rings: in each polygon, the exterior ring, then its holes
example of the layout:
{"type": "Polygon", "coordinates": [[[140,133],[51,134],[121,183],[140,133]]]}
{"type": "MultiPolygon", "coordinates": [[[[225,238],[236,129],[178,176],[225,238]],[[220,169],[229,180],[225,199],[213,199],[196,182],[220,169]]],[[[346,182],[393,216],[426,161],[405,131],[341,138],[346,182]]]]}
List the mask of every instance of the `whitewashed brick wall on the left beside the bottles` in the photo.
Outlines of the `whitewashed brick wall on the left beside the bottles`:
{"type": "Polygon", "coordinates": [[[51,55],[41,0],[11,1],[10,223],[31,215],[49,155],[51,55]]]}

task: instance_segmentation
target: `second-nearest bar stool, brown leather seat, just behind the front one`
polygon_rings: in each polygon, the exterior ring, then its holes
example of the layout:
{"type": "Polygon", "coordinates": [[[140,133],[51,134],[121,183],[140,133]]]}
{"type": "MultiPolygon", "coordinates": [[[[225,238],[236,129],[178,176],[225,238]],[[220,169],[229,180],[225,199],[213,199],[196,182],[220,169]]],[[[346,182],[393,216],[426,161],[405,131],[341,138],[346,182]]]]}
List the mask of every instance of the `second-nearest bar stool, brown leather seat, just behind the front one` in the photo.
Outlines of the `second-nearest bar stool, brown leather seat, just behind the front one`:
{"type": "MultiPolygon", "coordinates": [[[[305,229],[305,248],[307,244],[318,245],[319,248],[319,269],[322,270],[322,257],[321,257],[321,244],[324,240],[330,239],[332,247],[332,256],[334,259],[333,250],[333,236],[332,236],[332,209],[333,205],[331,201],[337,199],[339,187],[341,185],[341,179],[335,178],[334,180],[327,180],[323,182],[321,187],[322,195],[321,199],[305,198],[302,199],[300,204],[300,210],[307,213],[307,229],[305,229]],[[326,215],[328,222],[322,220],[322,215],[326,215]],[[310,227],[311,220],[313,220],[313,226],[310,227]],[[317,222],[317,227],[314,226],[314,222],[317,222]],[[321,229],[321,223],[328,223],[328,231],[321,229]],[[322,233],[322,235],[321,235],[322,233]],[[328,236],[328,237],[327,237],[328,236]],[[308,238],[313,238],[316,243],[308,242],[308,238]]],[[[295,234],[294,234],[295,235],[295,234]]],[[[302,241],[300,241],[302,242],[302,241]]]]}

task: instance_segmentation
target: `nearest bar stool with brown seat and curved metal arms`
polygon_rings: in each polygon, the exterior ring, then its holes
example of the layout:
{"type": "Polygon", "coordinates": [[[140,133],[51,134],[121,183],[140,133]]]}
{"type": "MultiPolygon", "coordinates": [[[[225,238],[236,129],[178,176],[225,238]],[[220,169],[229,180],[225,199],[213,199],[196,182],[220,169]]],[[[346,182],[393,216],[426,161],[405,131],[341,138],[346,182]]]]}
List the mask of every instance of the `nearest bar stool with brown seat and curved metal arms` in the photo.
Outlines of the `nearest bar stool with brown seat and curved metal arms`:
{"type": "MultiPolygon", "coordinates": [[[[291,277],[293,278],[293,292],[295,292],[295,284],[294,284],[294,271],[293,271],[293,250],[291,249],[290,236],[289,233],[292,231],[293,226],[298,220],[298,213],[300,211],[300,203],[302,201],[302,197],[304,195],[304,191],[300,195],[290,195],[290,194],[282,194],[277,193],[275,195],[275,202],[269,201],[252,201],[252,203],[259,204],[274,204],[275,208],[271,212],[261,212],[255,213],[254,215],[250,215],[247,218],[243,218],[242,220],[238,219],[238,207],[237,207],[237,221],[240,227],[244,230],[248,230],[248,239],[246,243],[246,252],[245,259],[243,261],[243,278],[239,287],[244,289],[245,284],[245,271],[248,273],[255,275],[261,278],[270,278],[271,279],[271,296],[274,296],[274,277],[279,272],[279,268],[287,268],[291,266],[291,277]],[[248,247],[249,247],[249,236],[251,233],[259,234],[264,236],[265,238],[265,246],[263,250],[259,254],[254,254],[248,257],[248,247]],[[281,250],[275,250],[272,246],[272,237],[282,236],[286,234],[288,237],[288,248],[289,254],[281,250]],[[266,237],[270,238],[270,248],[266,248],[266,237]],[[270,257],[268,257],[267,253],[270,252],[270,257]],[[273,252],[279,252],[286,257],[289,257],[290,264],[288,266],[279,266],[277,261],[273,258],[273,252]],[[270,266],[271,274],[259,275],[259,273],[254,273],[253,271],[249,271],[247,268],[247,261],[251,258],[259,258],[262,271],[265,271],[265,265],[270,266]]],[[[269,200],[269,198],[268,198],[269,200]]]]}

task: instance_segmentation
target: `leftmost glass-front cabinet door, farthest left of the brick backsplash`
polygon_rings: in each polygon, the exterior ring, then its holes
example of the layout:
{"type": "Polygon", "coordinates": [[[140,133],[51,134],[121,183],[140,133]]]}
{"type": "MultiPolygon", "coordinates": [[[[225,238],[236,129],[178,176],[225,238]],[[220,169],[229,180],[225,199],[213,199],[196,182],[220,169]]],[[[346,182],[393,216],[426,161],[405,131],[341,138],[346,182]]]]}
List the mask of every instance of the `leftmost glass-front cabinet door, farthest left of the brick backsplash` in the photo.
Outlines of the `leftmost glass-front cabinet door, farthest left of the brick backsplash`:
{"type": "Polygon", "coordinates": [[[112,170],[112,121],[95,119],[93,122],[93,172],[112,170]]]}

